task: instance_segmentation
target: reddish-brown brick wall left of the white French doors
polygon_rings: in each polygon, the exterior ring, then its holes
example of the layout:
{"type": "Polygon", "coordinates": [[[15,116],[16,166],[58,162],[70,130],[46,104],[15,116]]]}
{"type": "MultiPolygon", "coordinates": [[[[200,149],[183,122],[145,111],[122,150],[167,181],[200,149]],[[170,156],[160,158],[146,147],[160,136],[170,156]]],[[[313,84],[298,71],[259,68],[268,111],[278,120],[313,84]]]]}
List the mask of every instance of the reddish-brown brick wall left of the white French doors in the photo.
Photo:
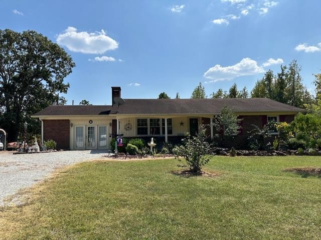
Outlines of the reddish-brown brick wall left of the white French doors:
{"type": "Polygon", "coordinates": [[[53,139],[57,149],[69,149],[69,120],[44,120],[44,141],[53,139]]]}

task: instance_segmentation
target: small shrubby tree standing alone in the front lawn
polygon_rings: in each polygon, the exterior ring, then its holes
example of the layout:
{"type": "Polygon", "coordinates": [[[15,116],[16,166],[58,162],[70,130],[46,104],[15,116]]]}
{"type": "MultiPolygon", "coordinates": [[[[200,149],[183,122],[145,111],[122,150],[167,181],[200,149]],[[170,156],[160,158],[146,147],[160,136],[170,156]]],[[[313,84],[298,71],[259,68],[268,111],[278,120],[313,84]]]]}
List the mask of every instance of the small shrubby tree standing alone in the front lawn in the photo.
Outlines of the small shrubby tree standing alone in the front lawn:
{"type": "Polygon", "coordinates": [[[173,148],[173,152],[180,162],[184,157],[186,164],[179,164],[181,167],[188,167],[194,174],[200,174],[202,166],[210,160],[213,144],[209,143],[206,136],[206,125],[199,127],[199,133],[192,138],[186,138],[183,144],[173,148]]]}

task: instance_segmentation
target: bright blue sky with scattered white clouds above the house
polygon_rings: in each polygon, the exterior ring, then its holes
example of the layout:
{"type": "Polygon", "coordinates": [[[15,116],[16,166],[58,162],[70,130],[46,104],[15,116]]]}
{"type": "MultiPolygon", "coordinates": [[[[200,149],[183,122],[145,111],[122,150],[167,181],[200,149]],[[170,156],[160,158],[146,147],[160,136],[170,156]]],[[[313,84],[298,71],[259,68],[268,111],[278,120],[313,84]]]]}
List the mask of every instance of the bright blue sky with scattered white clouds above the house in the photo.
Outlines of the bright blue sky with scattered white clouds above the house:
{"type": "Polygon", "coordinates": [[[68,104],[110,104],[162,91],[189,98],[203,82],[253,88],[269,68],[297,59],[313,89],[321,72],[320,0],[3,0],[0,28],[33,29],[58,42],[76,67],[68,104]]]}

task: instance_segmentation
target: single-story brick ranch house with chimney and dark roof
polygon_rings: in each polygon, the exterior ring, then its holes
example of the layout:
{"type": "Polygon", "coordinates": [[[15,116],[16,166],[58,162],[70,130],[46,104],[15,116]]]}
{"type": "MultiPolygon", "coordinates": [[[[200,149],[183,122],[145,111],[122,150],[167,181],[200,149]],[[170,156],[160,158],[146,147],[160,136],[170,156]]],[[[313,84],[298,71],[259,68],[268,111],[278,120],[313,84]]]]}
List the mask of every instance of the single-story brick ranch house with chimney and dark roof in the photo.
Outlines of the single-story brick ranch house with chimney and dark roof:
{"type": "MultiPolygon", "coordinates": [[[[293,120],[304,109],[268,98],[222,99],[124,99],[120,87],[111,87],[113,105],[51,105],[33,117],[41,120],[42,143],[54,139],[59,149],[108,149],[115,134],[157,142],[177,142],[187,132],[195,134],[201,123],[208,124],[224,106],[240,118],[242,129],[233,138],[245,145],[252,124],[293,120]]],[[[213,127],[210,129],[213,138],[213,127]]]]}

